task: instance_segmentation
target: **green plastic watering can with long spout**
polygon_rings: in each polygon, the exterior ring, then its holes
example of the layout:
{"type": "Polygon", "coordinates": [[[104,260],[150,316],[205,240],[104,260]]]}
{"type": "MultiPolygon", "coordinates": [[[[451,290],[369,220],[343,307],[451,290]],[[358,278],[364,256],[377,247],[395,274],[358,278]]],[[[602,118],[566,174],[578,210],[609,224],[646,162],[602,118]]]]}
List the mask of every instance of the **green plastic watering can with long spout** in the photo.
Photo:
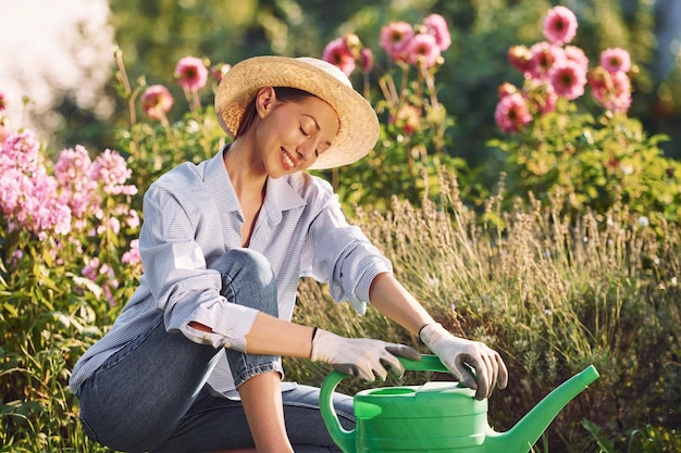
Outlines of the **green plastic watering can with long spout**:
{"type": "MultiPolygon", "coordinates": [[[[449,373],[435,355],[419,362],[399,360],[407,370],[449,373]]],[[[330,373],[320,393],[324,424],[345,453],[528,453],[558,412],[598,379],[598,372],[591,365],[571,377],[506,432],[487,424],[487,400],[475,400],[473,390],[451,381],[362,390],[355,395],[356,425],[348,431],[332,403],[346,376],[330,373]]]]}

